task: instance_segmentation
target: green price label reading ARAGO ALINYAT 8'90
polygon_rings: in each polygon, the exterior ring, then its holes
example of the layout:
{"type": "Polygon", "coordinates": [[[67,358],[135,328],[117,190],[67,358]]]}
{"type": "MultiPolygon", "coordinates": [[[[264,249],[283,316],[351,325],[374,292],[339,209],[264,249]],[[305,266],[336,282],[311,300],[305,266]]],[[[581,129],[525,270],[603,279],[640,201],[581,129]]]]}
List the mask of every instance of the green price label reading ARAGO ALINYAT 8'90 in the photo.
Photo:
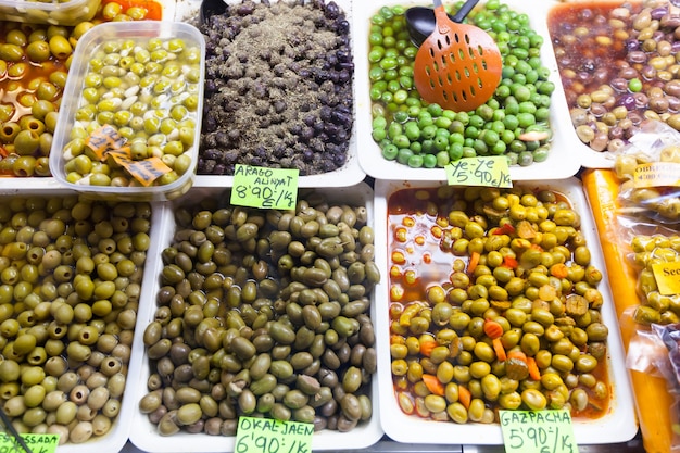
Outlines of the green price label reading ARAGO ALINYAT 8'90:
{"type": "Polygon", "coordinates": [[[292,210],[298,201],[298,169],[237,164],[231,204],[267,210],[292,210]]]}

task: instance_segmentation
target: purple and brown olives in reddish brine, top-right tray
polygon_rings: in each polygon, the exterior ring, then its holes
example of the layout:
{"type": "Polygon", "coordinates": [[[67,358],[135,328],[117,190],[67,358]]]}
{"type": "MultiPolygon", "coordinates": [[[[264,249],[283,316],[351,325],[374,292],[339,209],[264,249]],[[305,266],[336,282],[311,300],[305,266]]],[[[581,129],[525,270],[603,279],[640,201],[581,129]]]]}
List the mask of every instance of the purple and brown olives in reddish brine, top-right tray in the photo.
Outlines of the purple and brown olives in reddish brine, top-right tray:
{"type": "Polygon", "coordinates": [[[565,3],[549,32],[579,139],[616,151],[645,119],[680,129],[678,17],[669,2],[565,3]]]}

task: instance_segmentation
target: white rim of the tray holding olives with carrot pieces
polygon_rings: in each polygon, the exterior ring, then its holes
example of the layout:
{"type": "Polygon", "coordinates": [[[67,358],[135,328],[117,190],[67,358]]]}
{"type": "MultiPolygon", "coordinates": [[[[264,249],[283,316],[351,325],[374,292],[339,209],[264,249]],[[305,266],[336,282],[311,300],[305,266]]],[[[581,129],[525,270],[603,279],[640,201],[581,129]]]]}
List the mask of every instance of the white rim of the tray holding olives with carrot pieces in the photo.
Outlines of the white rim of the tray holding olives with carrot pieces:
{"type": "MultiPolygon", "coordinates": [[[[376,243],[387,244],[387,200],[393,192],[413,187],[438,187],[443,181],[376,181],[376,243]]],[[[565,194],[574,209],[581,215],[581,230],[591,250],[591,262],[599,269],[605,269],[600,239],[590,206],[585,200],[580,181],[568,178],[558,181],[524,181],[528,187],[547,188],[565,194]]],[[[383,275],[389,265],[387,247],[376,248],[376,264],[383,275]]],[[[579,444],[601,444],[625,442],[638,432],[633,398],[626,370],[626,355],[616,320],[612,291],[606,279],[599,286],[604,298],[602,307],[603,322],[609,328],[607,339],[608,376],[612,400],[609,411],[603,417],[593,420],[574,420],[574,435],[579,444]]],[[[389,284],[385,278],[376,288],[377,318],[376,341],[380,351],[389,349],[389,284]]],[[[503,444],[501,426],[473,424],[457,425],[453,421],[432,421],[413,415],[406,415],[399,407],[394,395],[389,354],[378,355],[378,380],[380,383],[380,418],[385,433],[398,442],[411,443],[451,443],[500,445],[503,444]]]]}

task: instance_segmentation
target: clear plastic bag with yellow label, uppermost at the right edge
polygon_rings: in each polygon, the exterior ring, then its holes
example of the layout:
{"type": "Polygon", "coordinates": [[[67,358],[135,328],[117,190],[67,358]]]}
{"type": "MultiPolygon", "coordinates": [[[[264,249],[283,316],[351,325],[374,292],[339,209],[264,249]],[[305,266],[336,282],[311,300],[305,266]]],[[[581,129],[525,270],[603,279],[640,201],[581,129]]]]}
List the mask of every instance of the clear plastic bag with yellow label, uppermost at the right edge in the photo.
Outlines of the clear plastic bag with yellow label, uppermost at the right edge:
{"type": "Polygon", "coordinates": [[[646,121],[628,144],[613,153],[621,214],[680,224],[680,133],[646,121]]]}

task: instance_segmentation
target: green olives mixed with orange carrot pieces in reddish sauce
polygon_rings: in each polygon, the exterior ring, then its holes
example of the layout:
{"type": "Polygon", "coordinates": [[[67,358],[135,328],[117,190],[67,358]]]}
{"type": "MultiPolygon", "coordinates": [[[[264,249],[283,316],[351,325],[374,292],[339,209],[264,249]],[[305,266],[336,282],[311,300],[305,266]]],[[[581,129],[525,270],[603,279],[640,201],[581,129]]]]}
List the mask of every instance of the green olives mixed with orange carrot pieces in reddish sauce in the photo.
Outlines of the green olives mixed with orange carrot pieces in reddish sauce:
{"type": "Polygon", "coordinates": [[[405,413],[461,424],[498,421],[499,408],[606,413],[602,274],[563,196],[404,189],[388,225],[391,370],[405,413]]]}

